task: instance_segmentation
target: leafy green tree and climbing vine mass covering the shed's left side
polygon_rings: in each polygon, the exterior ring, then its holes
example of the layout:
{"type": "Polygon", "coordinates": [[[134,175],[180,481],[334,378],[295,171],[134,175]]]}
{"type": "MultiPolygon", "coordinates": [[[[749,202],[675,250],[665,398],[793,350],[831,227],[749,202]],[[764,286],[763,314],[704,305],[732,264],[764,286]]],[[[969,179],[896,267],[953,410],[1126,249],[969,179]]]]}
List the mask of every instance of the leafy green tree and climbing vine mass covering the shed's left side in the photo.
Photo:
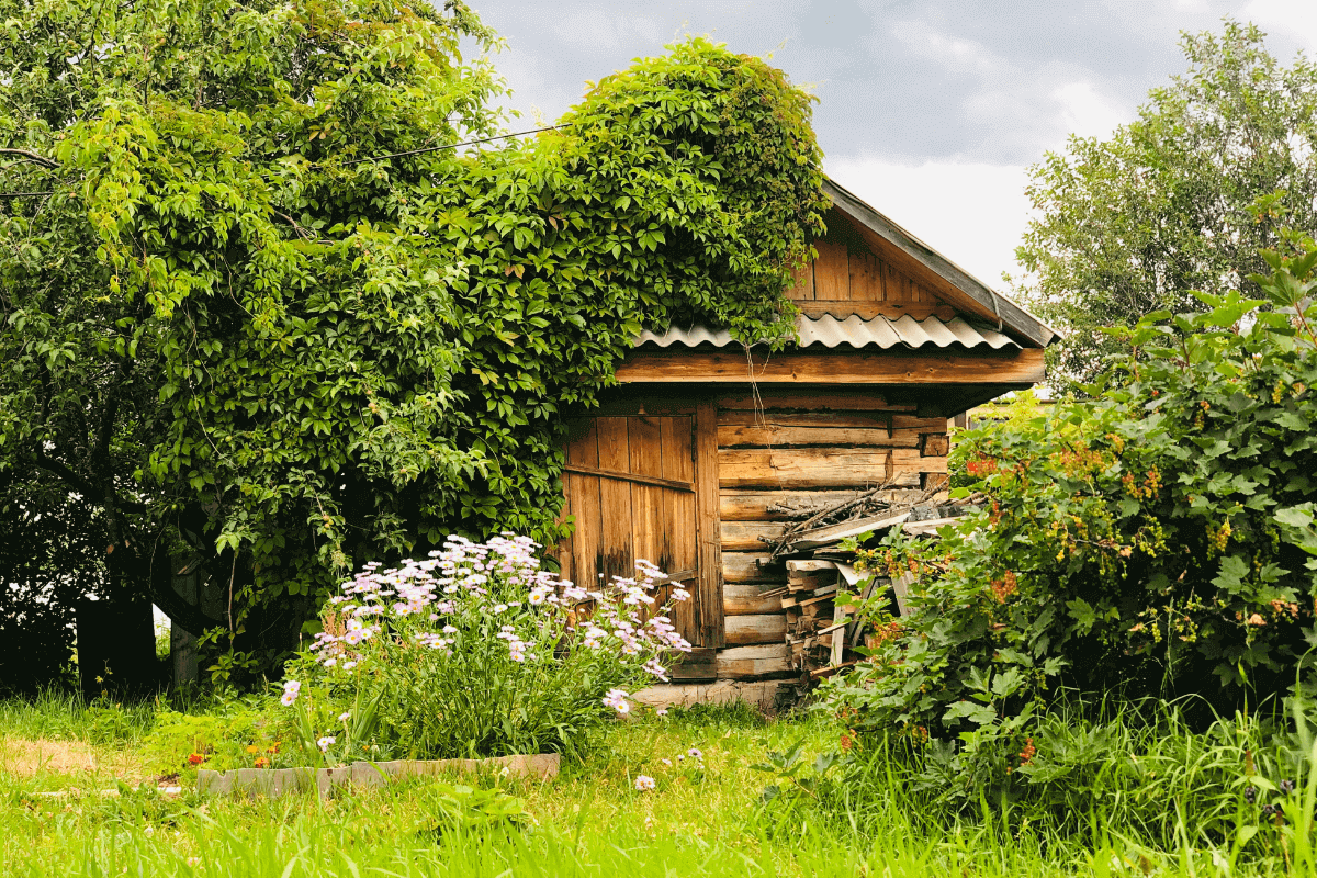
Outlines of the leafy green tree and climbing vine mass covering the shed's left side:
{"type": "Polygon", "coordinates": [[[554,540],[564,408],[645,325],[784,337],[822,230],[810,99],[706,41],[462,151],[503,86],[461,0],[0,21],[3,190],[43,194],[0,199],[0,477],[192,631],[169,563],[204,559],[253,667],[350,566],[554,540]]]}

